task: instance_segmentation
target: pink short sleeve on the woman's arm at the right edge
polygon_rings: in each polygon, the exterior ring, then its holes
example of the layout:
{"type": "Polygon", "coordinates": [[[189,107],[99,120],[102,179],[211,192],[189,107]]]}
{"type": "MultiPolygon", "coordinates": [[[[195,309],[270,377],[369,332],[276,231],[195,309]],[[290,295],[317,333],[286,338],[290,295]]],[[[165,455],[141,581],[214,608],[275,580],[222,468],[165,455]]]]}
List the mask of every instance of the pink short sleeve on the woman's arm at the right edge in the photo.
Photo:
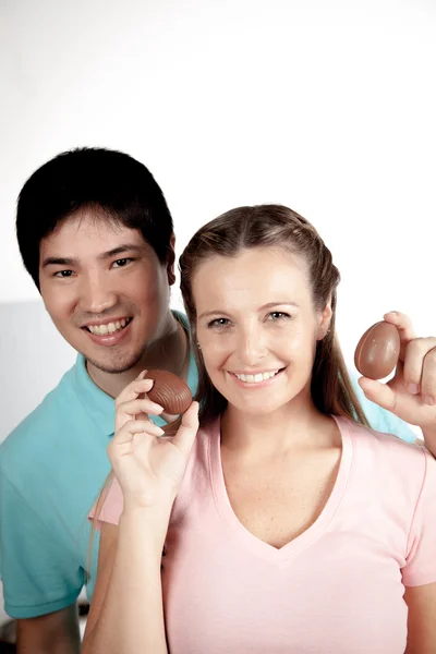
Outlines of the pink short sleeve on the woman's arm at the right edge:
{"type": "Polygon", "coordinates": [[[405,586],[436,582],[436,460],[425,450],[425,473],[409,535],[405,586]]]}

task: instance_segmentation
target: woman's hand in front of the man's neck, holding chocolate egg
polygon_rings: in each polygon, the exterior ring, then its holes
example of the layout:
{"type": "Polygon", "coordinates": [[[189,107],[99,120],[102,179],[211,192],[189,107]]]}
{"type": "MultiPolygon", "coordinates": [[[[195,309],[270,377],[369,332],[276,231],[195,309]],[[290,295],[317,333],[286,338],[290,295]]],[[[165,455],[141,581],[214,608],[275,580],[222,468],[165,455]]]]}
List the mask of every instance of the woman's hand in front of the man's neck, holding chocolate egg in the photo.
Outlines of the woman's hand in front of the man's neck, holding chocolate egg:
{"type": "Polygon", "coordinates": [[[175,436],[162,437],[164,429],[148,417],[159,415],[162,408],[147,398],[153,380],[144,379],[144,374],[116,400],[116,434],[108,455],[124,507],[168,508],[179,491],[198,429],[198,403],[193,402],[183,414],[175,436]]]}

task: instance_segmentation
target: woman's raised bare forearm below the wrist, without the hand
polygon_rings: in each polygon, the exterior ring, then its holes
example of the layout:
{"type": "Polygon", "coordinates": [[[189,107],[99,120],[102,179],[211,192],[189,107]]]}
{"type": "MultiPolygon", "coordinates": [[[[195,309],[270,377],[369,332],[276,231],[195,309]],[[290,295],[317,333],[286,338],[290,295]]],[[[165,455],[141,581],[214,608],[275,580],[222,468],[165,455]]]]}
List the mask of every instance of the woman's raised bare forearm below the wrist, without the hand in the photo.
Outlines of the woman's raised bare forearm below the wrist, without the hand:
{"type": "Polygon", "coordinates": [[[168,521],[138,509],[124,511],[119,528],[104,523],[82,654],[168,654],[160,581],[168,521]]]}

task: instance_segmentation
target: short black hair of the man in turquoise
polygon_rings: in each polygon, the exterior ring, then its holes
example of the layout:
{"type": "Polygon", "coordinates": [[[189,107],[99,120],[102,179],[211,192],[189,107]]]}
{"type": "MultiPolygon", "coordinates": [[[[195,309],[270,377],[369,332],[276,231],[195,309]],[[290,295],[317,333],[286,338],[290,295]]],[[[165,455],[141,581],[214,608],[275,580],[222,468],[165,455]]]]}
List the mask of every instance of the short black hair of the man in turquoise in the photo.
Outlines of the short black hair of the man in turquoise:
{"type": "Polygon", "coordinates": [[[118,150],[72,149],[38,168],[19,195],[16,237],[24,266],[38,290],[41,240],[61,220],[89,207],[112,222],[137,229],[166,263],[173,223],[149,170],[118,150]]]}

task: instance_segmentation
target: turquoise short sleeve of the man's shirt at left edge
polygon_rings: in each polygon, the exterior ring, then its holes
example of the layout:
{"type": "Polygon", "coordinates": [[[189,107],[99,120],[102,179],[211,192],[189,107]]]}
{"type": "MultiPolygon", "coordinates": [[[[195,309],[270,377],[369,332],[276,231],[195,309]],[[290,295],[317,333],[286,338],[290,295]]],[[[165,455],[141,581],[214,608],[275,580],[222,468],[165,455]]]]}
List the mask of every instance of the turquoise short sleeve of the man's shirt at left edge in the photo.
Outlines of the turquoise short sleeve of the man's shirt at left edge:
{"type": "Polygon", "coordinates": [[[33,618],[70,606],[84,572],[0,470],[0,573],[4,609],[33,618]]]}

